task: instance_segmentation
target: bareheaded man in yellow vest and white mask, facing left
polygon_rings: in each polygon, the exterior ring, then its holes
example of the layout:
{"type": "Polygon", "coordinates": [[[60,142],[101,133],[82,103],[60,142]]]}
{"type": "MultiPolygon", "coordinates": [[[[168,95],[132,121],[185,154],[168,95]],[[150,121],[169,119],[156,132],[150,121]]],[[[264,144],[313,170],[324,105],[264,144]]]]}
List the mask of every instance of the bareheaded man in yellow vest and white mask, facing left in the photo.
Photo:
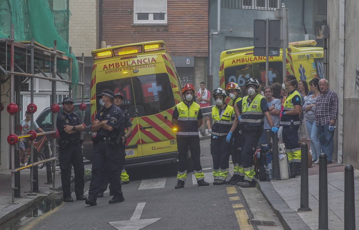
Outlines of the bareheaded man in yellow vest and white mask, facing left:
{"type": "Polygon", "coordinates": [[[292,177],[300,171],[301,149],[298,141],[298,129],[300,126],[299,113],[301,112],[302,99],[297,88],[297,79],[294,75],[287,75],[284,78],[282,87],[288,91],[288,97],[284,101],[284,108],[282,117],[280,119],[280,126],[283,126],[282,136],[285,144],[285,151],[288,155],[290,164],[290,172],[292,177]]]}

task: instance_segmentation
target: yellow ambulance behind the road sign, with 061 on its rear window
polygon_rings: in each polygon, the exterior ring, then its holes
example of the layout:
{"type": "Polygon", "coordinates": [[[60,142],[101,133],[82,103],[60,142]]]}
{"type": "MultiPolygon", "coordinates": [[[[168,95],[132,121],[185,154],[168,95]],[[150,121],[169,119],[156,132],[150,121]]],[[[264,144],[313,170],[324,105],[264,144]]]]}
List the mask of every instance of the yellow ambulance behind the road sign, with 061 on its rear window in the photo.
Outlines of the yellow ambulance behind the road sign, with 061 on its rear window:
{"type": "MultiPolygon", "coordinates": [[[[308,83],[314,77],[323,78],[323,48],[315,47],[316,41],[290,42],[286,52],[286,72],[297,80],[308,83]]],[[[282,53],[269,57],[269,84],[283,83],[282,53]]],[[[265,86],[266,57],[253,56],[253,46],[226,50],[221,53],[219,66],[220,87],[229,82],[238,83],[242,89],[248,78],[256,78],[265,86]]],[[[243,91],[243,90],[242,90],[243,91]]],[[[229,100],[229,99],[227,99],[229,100]]]]}

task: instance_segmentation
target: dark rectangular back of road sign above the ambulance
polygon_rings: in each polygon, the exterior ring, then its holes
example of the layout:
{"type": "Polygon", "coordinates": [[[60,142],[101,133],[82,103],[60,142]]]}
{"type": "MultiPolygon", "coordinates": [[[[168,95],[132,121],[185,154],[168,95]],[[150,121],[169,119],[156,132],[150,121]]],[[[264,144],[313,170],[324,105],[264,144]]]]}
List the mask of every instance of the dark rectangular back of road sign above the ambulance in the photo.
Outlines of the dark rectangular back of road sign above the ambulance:
{"type": "MultiPolygon", "coordinates": [[[[253,56],[266,56],[266,20],[255,19],[253,30],[253,56]]],[[[280,21],[268,20],[269,56],[279,56],[280,47],[280,21]]]]}

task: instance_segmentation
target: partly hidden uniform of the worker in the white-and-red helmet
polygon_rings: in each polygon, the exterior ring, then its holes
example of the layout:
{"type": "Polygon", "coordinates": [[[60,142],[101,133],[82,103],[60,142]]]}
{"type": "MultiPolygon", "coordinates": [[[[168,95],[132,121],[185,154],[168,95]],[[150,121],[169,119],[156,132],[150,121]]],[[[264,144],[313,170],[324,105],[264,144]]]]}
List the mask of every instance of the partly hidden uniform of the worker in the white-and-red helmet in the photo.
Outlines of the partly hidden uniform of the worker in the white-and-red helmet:
{"type": "MultiPolygon", "coordinates": [[[[240,96],[234,98],[233,105],[237,104],[241,101],[242,98],[240,96]]],[[[233,163],[233,176],[234,178],[226,182],[227,184],[237,184],[237,182],[243,180],[244,178],[244,170],[242,165],[242,146],[241,146],[241,128],[239,125],[236,127],[232,135],[233,145],[231,149],[232,154],[232,163],[233,163]],[[230,183],[233,181],[233,183],[230,183]]]]}

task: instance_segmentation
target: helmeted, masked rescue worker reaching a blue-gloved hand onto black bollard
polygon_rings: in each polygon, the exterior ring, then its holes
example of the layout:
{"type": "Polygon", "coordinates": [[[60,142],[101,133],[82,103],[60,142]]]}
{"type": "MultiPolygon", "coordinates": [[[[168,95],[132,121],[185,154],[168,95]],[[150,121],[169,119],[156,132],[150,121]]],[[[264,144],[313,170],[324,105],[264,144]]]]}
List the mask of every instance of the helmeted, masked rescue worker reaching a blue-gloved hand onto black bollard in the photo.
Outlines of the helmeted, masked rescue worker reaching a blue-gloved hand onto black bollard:
{"type": "Polygon", "coordinates": [[[241,135],[241,144],[244,180],[237,183],[242,188],[255,186],[254,177],[256,172],[254,170],[253,155],[263,132],[264,116],[266,116],[272,132],[278,132],[278,128],[274,127],[269,114],[267,100],[258,94],[258,90],[260,90],[258,81],[254,78],[249,78],[245,87],[248,95],[234,106],[243,133],[241,135]]]}

